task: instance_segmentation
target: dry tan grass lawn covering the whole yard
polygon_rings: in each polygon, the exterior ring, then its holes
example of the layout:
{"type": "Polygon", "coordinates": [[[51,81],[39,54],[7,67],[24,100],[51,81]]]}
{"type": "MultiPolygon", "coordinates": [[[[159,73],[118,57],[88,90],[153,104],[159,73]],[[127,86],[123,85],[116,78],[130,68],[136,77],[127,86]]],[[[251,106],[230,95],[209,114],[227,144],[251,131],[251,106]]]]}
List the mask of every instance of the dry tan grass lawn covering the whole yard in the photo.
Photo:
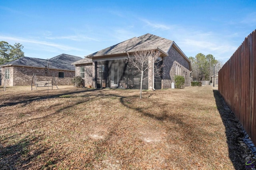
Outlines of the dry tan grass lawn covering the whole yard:
{"type": "Polygon", "coordinates": [[[211,86],[142,100],[139,90],[30,88],[0,92],[0,169],[231,170],[250,155],[211,86]]]}

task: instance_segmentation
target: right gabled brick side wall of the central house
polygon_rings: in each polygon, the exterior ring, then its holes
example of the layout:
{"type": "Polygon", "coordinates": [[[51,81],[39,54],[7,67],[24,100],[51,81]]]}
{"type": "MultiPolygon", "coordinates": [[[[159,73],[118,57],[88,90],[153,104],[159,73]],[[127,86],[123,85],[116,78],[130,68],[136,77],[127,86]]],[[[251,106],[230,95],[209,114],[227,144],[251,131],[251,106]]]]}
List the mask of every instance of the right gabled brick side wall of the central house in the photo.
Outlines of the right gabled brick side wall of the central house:
{"type": "Polygon", "coordinates": [[[180,72],[180,76],[184,76],[185,78],[184,86],[190,86],[189,63],[174,47],[171,47],[169,50],[168,57],[163,57],[163,64],[162,88],[171,88],[171,83],[174,82],[174,76],[178,72],[180,72]],[[176,67],[178,66],[180,66],[178,68],[180,71],[176,72],[176,67]]]}

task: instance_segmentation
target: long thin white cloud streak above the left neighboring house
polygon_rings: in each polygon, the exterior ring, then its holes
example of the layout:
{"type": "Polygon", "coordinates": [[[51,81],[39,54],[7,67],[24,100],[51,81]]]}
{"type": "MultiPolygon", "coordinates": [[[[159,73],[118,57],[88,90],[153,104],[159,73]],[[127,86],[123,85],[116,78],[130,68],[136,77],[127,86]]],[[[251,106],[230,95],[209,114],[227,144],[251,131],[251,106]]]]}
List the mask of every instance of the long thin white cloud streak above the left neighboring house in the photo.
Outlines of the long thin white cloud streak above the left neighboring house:
{"type": "Polygon", "coordinates": [[[44,46],[48,46],[48,47],[54,47],[57,49],[61,49],[64,51],[71,51],[71,50],[76,50],[76,51],[82,51],[81,49],[78,49],[76,47],[70,47],[67,45],[60,45],[60,44],[56,44],[56,43],[51,43],[51,42],[47,42],[47,41],[38,41],[38,40],[34,40],[34,39],[25,39],[25,38],[20,38],[20,37],[8,37],[8,36],[1,36],[0,35],[0,39],[4,39],[5,41],[15,41],[15,42],[19,42],[19,43],[32,43],[32,44],[38,44],[38,45],[44,45],[44,46]]]}

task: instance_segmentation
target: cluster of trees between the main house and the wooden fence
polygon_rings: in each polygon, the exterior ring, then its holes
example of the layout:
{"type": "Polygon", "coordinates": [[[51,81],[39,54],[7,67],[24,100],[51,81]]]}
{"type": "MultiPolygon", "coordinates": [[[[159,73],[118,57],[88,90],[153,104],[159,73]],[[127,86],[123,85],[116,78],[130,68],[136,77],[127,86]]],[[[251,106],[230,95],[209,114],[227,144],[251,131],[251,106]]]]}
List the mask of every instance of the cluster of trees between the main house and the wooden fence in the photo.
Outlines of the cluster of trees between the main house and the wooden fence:
{"type": "Polygon", "coordinates": [[[192,66],[192,77],[196,81],[211,80],[213,74],[217,74],[223,66],[222,61],[216,60],[211,54],[198,53],[196,57],[189,57],[192,66]]]}

